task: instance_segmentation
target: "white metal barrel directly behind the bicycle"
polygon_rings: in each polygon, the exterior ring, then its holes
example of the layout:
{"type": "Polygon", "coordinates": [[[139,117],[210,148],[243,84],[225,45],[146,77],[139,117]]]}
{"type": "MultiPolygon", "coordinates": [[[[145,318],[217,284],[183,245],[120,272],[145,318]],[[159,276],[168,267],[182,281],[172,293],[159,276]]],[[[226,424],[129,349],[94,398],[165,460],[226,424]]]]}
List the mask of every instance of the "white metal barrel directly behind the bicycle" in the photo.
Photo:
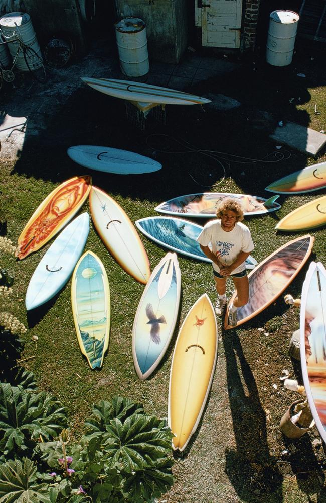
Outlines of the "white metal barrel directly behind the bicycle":
{"type": "MultiPolygon", "coordinates": [[[[26,12],[10,12],[2,16],[0,18],[0,32],[5,40],[13,40],[13,42],[7,44],[13,59],[19,48],[19,42],[15,40],[15,38],[19,37],[25,45],[34,49],[42,60],[41,49],[36,38],[32,21],[26,12]]],[[[32,66],[32,69],[37,69],[41,66],[41,63],[33,60],[30,66],[32,66]]],[[[29,71],[25,63],[23,51],[20,51],[15,67],[22,71],[29,71]]]]}

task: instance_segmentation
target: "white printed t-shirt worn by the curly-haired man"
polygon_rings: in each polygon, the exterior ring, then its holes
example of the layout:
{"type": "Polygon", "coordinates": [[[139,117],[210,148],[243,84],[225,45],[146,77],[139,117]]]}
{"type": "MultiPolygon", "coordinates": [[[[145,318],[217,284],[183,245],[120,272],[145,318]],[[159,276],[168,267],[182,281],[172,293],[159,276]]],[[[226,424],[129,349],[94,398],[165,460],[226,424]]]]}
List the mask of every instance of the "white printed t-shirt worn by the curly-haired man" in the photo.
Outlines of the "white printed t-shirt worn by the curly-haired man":
{"type": "MultiPolygon", "coordinates": [[[[225,266],[232,264],[240,251],[250,253],[254,249],[250,230],[246,225],[237,222],[232,230],[226,232],[221,227],[221,220],[208,222],[199,234],[197,241],[202,246],[212,247],[214,255],[220,251],[222,256],[219,261],[225,266]]],[[[220,268],[213,262],[213,268],[219,272],[220,268]]],[[[232,271],[232,274],[241,273],[246,268],[245,262],[232,271]]]]}

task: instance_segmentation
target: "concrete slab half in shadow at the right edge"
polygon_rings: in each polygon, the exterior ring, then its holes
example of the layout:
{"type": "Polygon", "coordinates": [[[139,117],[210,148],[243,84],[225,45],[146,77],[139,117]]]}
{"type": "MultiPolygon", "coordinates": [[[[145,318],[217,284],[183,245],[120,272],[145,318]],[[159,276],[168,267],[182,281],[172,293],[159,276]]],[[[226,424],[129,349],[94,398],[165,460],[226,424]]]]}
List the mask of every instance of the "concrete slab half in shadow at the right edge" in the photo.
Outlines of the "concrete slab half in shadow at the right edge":
{"type": "Polygon", "coordinates": [[[317,155],[326,144],[325,134],[294,122],[286,122],[283,127],[277,126],[269,137],[278,143],[310,155],[317,155]]]}

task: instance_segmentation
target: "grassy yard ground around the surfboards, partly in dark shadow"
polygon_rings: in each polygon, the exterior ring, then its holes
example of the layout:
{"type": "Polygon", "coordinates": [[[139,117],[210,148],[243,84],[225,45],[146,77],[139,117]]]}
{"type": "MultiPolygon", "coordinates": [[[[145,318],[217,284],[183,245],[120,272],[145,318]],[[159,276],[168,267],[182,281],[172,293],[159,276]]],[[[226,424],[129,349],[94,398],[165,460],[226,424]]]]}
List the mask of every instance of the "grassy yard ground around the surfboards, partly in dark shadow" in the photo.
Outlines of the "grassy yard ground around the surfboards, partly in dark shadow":
{"type": "MultiPolygon", "coordinates": [[[[50,79],[49,89],[51,83],[50,79]]],[[[182,194],[212,190],[268,198],[272,194],[264,188],[273,180],[326,160],[324,150],[318,158],[291,150],[288,160],[276,162],[277,157],[272,154],[275,144],[268,138],[271,130],[261,113],[270,114],[274,125],[279,120],[291,120],[317,131],[326,130],[324,55],[303,48],[284,71],[272,71],[263,62],[258,62],[255,69],[251,63],[239,65],[239,70],[227,78],[210,79],[192,91],[223,93],[242,105],[228,112],[167,107],[166,126],[153,125],[141,132],[126,122],[118,100],[90,88],[76,89],[69,102],[61,104],[60,118],[47,116],[43,133],[28,137],[16,163],[1,162],[0,220],[7,220],[7,237],[16,243],[42,200],[62,181],[75,175],[91,174],[93,184],[116,199],[135,221],[154,215],[154,208],[161,201],[182,194]],[[297,73],[306,77],[297,77],[297,73]],[[169,136],[151,136],[152,132],[169,136]],[[194,149],[225,152],[219,154],[223,167],[213,158],[188,151],[176,139],[186,140],[194,149]],[[91,173],[66,155],[69,146],[83,143],[154,156],[164,167],[149,175],[128,177],[91,173]],[[176,151],[184,153],[173,153],[176,151]]],[[[8,91],[9,98],[11,92],[8,91]]],[[[277,155],[285,149],[276,150],[277,155]]],[[[281,196],[282,207],[278,212],[245,219],[255,243],[253,256],[258,262],[287,241],[307,233],[276,233],[274,227],[290,211],[321,195],[318,192],[281,196]]],[[[82,211],[89,211],[88,201],[82,211]]],[[[310,260],[325,265],[325,227],[313,229],[310,234],[315,236],[310,260]]],[[[141,239],[153,269],[166,250],[144,236],[141,239]]],[[[139,381],[132,361],[131,332],[144,287],[115,262],[92,224],[85,249],[92,250],[103,262],[111,292],[110,345],[101,370],[91,371],[80,353],[71,310],[70,281],[48,304],[26,312],[28,283],[51,242],[23,261],[7,254],[1,257],[0,266],[15,277],[12,301],[4,300],[2,310],[12,312],[29,327],[24,337],[22,358],[27,359],[24,365],[35,373],[41,389],[53,392],[67,407],[75,436],[83,431],[92,404],[110,400],[116,394],[139,400],[147,411],[166,417],[171,358],[178,330],[154,374],[144,382],[139,381]],[[37,341],[33,340],[35,335],[37,341]]],[[[293,297],[301,295],[310,260],[285,293],[293,297]]],[[[210,265],[182,256],[179,264],[182,303],[178,327],[204,292],[213,302],[216,298],[210,265]]],[[[228,294],[231,293],[229,283],[228,294]]],[[[218,361],[207,406],[187,449],[174,454],[176,483],[161,501],[326,501],[326,456],[323,445],[314,442],[319,439],[317,430],[292,441],[283,437],[279,428],[287,407],[299,398],[297,393],[284,389],[279,380],[284,369],[291,378],[302,380],[300,365],[288,353],[298,323],[299,310],[287,306],[283,295],[237,330],[224,332],[218,319],[218,361]],[[282,454],[283,451],[286,453],[282,454]]]]}

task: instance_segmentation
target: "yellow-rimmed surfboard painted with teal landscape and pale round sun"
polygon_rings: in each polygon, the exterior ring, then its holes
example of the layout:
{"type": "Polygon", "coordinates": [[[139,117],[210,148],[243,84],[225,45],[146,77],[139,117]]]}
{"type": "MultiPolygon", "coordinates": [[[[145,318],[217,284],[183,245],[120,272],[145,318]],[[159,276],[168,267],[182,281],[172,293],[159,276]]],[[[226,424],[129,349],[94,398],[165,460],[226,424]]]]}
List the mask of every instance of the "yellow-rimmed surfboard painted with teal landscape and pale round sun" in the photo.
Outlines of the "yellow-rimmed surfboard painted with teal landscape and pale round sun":
{"type": "Polygon", "coordinates": [[[71,304],[80,350],[91,369],[100,368],[110,337],[110,288],[100,259],[85,251],[76,264],[71,304]]]}

